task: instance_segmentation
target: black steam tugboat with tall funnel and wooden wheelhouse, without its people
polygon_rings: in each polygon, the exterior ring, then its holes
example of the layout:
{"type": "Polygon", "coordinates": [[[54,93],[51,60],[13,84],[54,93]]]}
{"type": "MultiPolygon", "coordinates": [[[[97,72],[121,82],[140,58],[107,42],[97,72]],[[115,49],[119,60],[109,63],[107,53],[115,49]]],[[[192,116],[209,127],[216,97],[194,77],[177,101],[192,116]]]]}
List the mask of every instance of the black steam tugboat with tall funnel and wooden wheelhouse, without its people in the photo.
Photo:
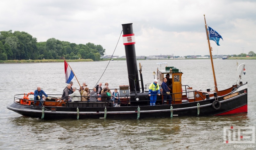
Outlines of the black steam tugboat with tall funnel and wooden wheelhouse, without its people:
{"type": "MultiPolygon", "coordinates": [[[[170,75],[168,86],[172,87],[172,92],[170,93],[172,99],[170,99],[169,104],[169,99],[164,100],[164,95],[166,94],[161,93],[160,96],[157,96],[156,105],[150,106],[149,84],[146,84],[144,88],[141,65],[139,79],[135,53],[135,34],[133,33],[132,23],[123,24],[122,26],[129,85],[120,86],[119,88],[120,107],[110,107],[109,102],[68,102],[61,99],[61,95],[49,95],[51,99],[45,98],[42,106],[39,106],[39,102],[26,98],[33,94],[33,92],[29,92],[27,95],[15,95],[14,101],[7,108],[26,117],[42,119],[139,119],[247,113],[247,82],[243,83],[240,81],[242,75],[245,74],[245,64],[238,66],[240,71],[236,84],[228,89],[219,91],[215,82],[214,91],[210,91],[210,89],[197,90],[193,89],[190,85],[182,84],[183,72],[180,69],[175,68],[175,66],[166,66],[166,63],[158,63],[160,67],[157,68],[156,79],[159,85],[161,85],[164,77],[167,74],[170,75]]],[[[210,44],[210,42],[208,43],[210,44]]]]}

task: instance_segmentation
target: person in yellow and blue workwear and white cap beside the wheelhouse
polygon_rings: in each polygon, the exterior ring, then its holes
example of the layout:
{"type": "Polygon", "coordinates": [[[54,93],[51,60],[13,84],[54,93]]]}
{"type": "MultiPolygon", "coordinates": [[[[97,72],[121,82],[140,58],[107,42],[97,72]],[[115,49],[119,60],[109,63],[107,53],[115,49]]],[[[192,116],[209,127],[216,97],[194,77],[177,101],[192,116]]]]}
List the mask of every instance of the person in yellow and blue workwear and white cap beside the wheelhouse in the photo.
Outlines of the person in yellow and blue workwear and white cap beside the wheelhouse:
{"type": "Polygon", "coordinates": [[[154,82],[149,85],[149,91],[148,91],[148,96],[150,96],[150,106],[155,106],[156,105],[156,96],[160,95],[160,87],[157,84],[157,80],[154,79],[154,82]]]}

